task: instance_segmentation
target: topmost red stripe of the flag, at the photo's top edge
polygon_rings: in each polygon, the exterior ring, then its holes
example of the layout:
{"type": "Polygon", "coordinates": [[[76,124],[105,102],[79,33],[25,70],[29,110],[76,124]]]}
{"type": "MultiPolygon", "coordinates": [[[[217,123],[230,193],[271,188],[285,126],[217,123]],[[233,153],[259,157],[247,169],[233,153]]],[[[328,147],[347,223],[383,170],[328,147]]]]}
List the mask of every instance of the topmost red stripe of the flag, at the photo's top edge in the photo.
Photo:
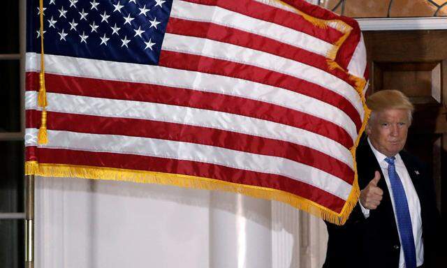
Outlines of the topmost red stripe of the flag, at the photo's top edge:
{"type": "MultiPolygon", "coordinates": [[[[305,20],[301,15],[283,10],[281,8],[275,8],[264,3],[259,3],[253,0],[237,0],[237,1],[217,1],[217,0],[185,0],[190,3],[198,3],[207,6],[219,6],[226,10],[234,11],[254,17],[258,20],[265,22],[272,22],[295,31],[300,31],[309,36],[314,36],[318,39],[324,40],[328,43],[335,43],[339,38],[343,36],[340,31],[336,29],[327,28],[321,29],[315,27],[314,24],[305,20]]],[[[171,17],[170,20],[173,18],[171,17]]]]}

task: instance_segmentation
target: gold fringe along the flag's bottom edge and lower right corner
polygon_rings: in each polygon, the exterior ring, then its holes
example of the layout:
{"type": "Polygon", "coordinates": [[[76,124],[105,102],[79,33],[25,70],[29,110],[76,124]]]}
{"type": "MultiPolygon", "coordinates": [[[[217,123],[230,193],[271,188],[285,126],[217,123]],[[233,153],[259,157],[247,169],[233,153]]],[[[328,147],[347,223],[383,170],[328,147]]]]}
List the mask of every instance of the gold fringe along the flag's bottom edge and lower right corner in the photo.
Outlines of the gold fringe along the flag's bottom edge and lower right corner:
{"type": "MultiPolygon", "coordinates": [[[[35,174],[43,177],[77,177],[82,179],[131,181],[136,183],[163,184],[184,188],[230,191],[233,193],[249,195],[253,198],[284,202],[297,209],[301,209],[302,211],[307,211],[309,214],[323,218],[325,221],[338,225],[341,225],[346,221],[349,212],[356,205],[356,201],[349,201],[345,205],[342,214],[337,214],[334,211],[321,206],[321,204],[277,189],[235,184],[218,179],[195,177],[184,174],[170,174],[143,170],[124,170],[119,168],[101,168],[85,165],[59,165],[29,161],[25,163],[25,174],[35,174]]],[[[358,186],[355,189],[358,189],[358,186]]],[[[358,196],[358,191],[353,190],[351,195],[355,198],[358,196]]]]}

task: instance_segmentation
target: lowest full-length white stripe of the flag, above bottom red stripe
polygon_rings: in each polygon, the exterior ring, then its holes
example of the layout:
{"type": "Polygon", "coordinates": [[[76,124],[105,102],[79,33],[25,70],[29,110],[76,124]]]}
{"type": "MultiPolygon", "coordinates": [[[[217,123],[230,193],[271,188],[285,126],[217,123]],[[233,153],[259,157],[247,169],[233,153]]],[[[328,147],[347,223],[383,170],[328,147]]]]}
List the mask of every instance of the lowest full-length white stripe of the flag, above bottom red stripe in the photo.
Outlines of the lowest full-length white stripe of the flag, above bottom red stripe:
{"type": "MultiPolygon", "coordinates": [[[[27,140],[25,141],[27,146],[36,146],[37,131],[36,128],[27,128],[27,140]]],[[[264,156],[210,145],[146,137],[98,135],[52,130],[48,130],[47,134],[49,142],[42,147],[50,149],[72,149],[173,158],[223,165],[240,170],[278,174],[316,186],[343,200],[349,197],[352,188],[346,181],[331,174],[277,156],[264,156]]]]}

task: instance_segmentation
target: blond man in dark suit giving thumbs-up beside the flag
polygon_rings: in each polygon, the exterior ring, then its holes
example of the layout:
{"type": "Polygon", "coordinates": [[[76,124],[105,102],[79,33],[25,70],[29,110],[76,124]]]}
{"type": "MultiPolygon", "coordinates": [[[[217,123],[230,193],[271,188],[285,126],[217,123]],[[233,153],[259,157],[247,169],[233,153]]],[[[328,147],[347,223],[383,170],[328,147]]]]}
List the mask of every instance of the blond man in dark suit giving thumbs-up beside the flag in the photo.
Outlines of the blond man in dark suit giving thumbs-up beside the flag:
{"type": "Polygon", "coordinates": [[[379,91],[356,150],[360,198],[344,226],[328,225],[323,267],[434,267],[440,223],[432,179],[402,151],[413,105],[400,91],[379,91]]]}

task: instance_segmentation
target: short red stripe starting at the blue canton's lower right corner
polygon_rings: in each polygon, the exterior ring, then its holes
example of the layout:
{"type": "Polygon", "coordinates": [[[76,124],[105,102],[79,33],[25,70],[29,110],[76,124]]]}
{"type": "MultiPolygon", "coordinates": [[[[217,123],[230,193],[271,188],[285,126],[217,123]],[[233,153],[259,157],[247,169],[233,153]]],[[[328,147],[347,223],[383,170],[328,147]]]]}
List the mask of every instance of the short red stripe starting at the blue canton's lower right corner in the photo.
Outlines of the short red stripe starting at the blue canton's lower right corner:
{"type": "Polygon", "coordinates": [[[334,107],[338,107],[351,118],[354,124],[356,124],[357,131],[360,131],[362,126],[360,114],[358,114],[356,108],[353,107],[346,98],[336,94],[334,91],[330,91],[329,89],[325,89],[324,87],[306,80],[301,80],[297,77],[276,73],[272,70],[256,66],[239,64],[233,61],[213,59],[194,54],[170,52],[166,50],[162,50],[160,54],[159,65],[183,70],[194,70],[201,73],[237,77],[295,91],[316,98],[334,107]]]}

